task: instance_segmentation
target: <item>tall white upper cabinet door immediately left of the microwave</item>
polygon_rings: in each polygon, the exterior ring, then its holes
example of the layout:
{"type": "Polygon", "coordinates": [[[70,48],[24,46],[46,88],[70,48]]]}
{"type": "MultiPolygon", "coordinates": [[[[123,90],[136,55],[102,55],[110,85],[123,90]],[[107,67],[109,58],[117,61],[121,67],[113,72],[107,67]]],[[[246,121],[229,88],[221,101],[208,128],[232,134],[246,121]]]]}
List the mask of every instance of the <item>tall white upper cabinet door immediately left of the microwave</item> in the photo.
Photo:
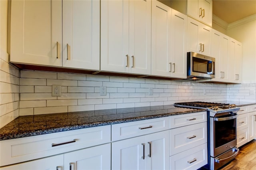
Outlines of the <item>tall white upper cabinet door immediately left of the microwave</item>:
{"type": "Polygon", "coordinates": [[[171,76],[187,78],[187,16],[172,10],[171,76]]]}

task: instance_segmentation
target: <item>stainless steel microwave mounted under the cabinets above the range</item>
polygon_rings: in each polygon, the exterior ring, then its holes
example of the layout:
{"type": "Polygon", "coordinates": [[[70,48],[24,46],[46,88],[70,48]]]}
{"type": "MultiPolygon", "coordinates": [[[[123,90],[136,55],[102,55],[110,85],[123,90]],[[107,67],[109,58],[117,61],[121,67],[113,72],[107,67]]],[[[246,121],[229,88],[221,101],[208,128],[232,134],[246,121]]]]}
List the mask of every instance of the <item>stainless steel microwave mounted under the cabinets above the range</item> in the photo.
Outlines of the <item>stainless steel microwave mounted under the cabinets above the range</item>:
{"type": "Polygon", "coordinates": [[[214,78],[215,58],[199,53],[187,53],[187,79],[214,78]]]}

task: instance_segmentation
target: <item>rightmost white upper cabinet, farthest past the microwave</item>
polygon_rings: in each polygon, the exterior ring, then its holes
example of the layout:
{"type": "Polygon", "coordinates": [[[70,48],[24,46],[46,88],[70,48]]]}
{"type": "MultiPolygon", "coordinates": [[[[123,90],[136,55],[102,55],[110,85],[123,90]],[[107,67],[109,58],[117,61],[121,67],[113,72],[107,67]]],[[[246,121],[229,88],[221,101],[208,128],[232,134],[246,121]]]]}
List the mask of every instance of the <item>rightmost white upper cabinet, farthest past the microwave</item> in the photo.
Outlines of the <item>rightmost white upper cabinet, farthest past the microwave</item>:
{"type": "Polygon", "coordinates": [[[241,74],[242,43],[230,38],[229,73],[231,83],[242,83],[241,74]]]}

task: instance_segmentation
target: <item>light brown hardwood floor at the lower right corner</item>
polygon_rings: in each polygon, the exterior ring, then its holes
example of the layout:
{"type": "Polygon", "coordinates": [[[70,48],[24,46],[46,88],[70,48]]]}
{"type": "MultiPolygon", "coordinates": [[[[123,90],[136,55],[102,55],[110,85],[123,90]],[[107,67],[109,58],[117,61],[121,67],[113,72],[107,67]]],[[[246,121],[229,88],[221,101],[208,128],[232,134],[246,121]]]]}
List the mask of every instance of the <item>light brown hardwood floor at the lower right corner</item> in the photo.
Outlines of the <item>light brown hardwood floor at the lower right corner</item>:
{"type": "Polygon", "coordinates": [[[256,170],[256,140],[241,146],[236,158],[220,170],[256,170]]]}

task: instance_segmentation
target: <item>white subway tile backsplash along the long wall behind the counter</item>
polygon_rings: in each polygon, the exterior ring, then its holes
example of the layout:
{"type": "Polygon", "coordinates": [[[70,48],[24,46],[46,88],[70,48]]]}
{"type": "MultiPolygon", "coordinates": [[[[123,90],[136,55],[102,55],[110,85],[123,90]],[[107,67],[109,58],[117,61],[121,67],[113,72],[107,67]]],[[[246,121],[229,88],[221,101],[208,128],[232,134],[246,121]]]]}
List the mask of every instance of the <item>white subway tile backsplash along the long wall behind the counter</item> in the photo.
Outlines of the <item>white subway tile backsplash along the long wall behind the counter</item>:
{"type": "MultiPolygon", "coordinates": [[[[226,99],[226,84],[20,71],[20,115],[100,111],[226,99]],[[52,85],[62,86],[60,97],[52,97],[52,85]],[[107,87],[106,96],[100,95],[100,86],[107,87]],[[149,95],[150,87],[153,88],[153,95],[149,95]]],[[[108,115],[105,119],[117,117],[118,115],[108,115]]]]}

